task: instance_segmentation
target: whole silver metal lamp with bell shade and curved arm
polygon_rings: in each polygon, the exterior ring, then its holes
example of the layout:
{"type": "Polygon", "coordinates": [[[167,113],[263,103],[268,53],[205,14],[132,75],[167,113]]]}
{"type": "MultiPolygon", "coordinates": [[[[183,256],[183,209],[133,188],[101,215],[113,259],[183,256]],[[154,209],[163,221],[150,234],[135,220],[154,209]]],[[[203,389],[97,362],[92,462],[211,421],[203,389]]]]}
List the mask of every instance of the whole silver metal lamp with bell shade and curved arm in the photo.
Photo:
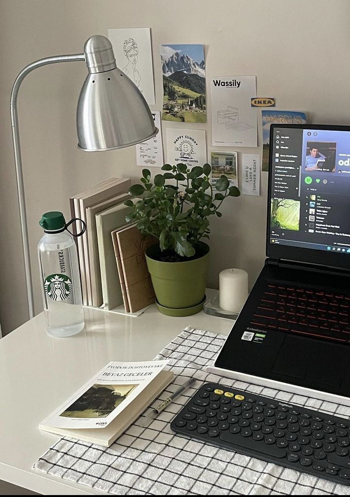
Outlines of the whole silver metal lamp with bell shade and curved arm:
{"type": "Polygon", "coordinates": [[[18,90],[24,78],[34,69],[57,62],[76,61],[84,61],[88,67],[88,76],[79,95],[76,113],[80,150],[96,152],[121,149],[149,140],[158,133],[146,100],[137,86],[117,68],[112,44],[105,36],[95,35],[89,38],[83,54],[40,59],[19,73],[11,91],[10,110],[30,318],[34,317],[34,302],[18,132],[18,90]]]}

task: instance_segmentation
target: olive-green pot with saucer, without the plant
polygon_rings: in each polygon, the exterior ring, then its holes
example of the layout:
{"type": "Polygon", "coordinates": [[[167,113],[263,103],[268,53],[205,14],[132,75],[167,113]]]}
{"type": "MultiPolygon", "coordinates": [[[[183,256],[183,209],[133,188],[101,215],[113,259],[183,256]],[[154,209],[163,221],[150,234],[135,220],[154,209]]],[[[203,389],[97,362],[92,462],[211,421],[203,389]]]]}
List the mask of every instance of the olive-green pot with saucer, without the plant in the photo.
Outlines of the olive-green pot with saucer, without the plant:
{"type": "Polygon", "coordinates": [[[196,254],[181,262],[159,260],[159,245],[146,250],[146,261],[157,298],[157,307],[169,316],[190,316],[201,311],[209,268],[209,247],[198,242],[196,254]],[[193,311],[193,312],[192,312],[193,311]]]}

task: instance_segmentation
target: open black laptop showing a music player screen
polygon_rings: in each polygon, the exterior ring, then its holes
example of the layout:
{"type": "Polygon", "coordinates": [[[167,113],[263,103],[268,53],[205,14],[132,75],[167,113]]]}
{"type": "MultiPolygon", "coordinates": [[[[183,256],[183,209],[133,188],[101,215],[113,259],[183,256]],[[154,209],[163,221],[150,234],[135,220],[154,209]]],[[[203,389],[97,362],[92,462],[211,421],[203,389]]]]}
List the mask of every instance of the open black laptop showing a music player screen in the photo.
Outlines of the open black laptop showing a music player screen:
{"type": "Polygon", "coordinates": [[[350,127],[271,125],[266,256],[208,371],[350,406],[350,127]]]}

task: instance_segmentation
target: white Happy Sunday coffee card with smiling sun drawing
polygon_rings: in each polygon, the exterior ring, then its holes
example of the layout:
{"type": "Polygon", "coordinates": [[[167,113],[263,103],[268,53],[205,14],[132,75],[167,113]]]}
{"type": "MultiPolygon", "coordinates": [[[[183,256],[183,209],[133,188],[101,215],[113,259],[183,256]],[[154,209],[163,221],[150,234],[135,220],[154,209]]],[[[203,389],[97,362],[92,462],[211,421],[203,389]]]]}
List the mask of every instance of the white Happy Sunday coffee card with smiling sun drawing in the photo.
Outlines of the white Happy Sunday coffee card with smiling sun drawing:
{"type": "Polygon", "coordinates": [[[167,128],[168,163],[203,166],[207,162],[207,144],[203,129],[167,128]]]}

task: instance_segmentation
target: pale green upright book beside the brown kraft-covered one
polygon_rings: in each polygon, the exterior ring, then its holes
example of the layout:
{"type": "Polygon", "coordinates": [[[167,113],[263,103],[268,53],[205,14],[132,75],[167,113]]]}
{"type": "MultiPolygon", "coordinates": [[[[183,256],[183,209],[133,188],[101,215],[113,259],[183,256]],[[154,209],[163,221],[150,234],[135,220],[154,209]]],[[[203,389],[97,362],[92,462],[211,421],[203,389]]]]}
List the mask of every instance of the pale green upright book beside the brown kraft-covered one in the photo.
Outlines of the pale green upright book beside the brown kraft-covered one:
{"type": "MultiPolygon", "coordinates": [[[[136,202],[137,200],[139,199],[132,199],[133,202],[136,202]]],[[[119,204],[96,215],[102,298],[104,306],[109,310],[123,304],[111,233],[117,228],[125,225],[125,216],[129,214],[129,212],[131,212],[131,207],[119,204]]]]}

